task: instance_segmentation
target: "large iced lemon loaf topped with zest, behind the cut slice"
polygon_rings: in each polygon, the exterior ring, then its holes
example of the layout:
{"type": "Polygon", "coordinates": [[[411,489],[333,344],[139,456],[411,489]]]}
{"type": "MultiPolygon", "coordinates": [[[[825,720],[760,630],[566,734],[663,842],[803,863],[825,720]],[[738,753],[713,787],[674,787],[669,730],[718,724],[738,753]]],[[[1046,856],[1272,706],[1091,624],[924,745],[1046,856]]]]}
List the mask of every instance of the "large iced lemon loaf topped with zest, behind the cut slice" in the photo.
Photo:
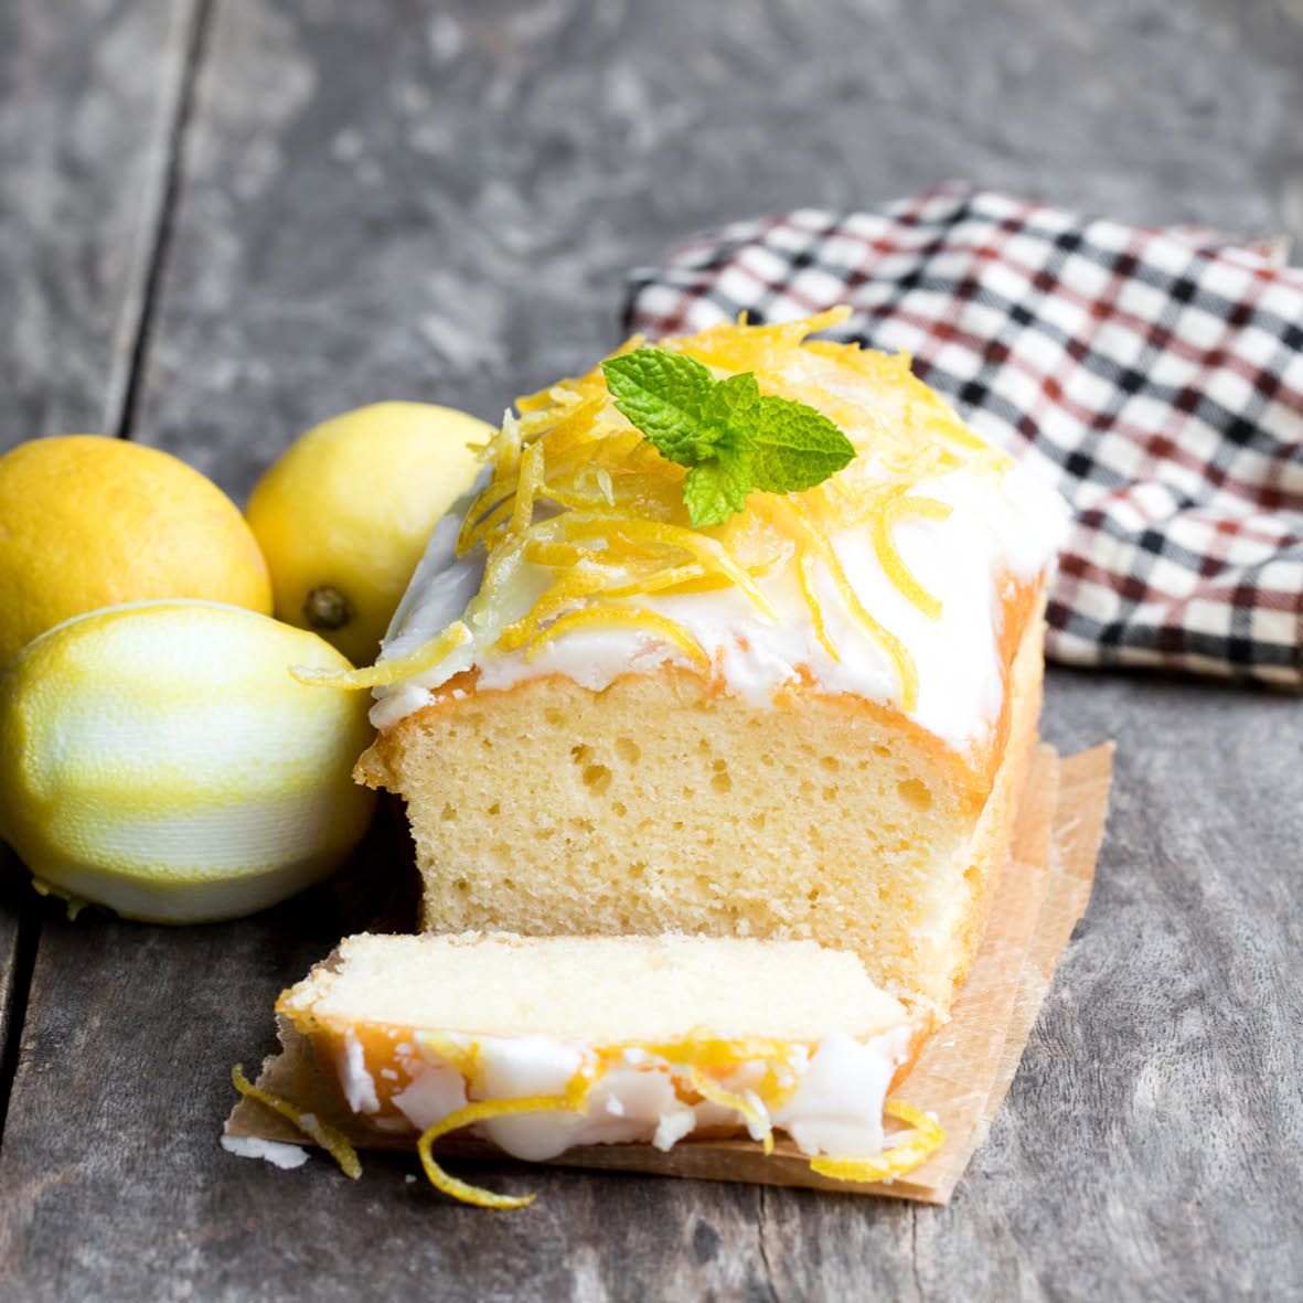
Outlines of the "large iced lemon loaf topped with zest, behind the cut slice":
{"type": "Polygon", "coordinates": [[[395,616],[361,780],[407,801],[423,926],[809,938],[945,1018],[1040,705],[1057,496],[908,358],[662,340],[855,457],[693,528],[601,369],[521,400],[395,616]]]}

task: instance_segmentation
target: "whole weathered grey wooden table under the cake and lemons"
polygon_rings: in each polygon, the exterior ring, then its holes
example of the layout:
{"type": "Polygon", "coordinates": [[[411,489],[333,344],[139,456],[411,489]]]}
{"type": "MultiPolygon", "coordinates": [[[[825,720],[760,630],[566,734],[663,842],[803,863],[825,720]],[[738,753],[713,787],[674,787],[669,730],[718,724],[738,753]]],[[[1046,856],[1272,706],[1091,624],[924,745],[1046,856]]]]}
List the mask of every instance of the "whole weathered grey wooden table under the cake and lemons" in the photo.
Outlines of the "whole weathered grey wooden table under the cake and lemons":
{"type": "MultiPolygon", "coordinates": [[[[585,366],[693,228],[950,176],[1299,236],[1300,69],[1296,0],[5,0],[0,448],[116,433],[238,498],[345,408],[493,416],[585,366]]],[[[404,1158],[231,1157],[231,1063],[383,883],[168,930],[69,924],[10,863],[0,1295],[1300,1298],[1300,724],[1052,675],[1046,736],[1115,737],[1115,804],[945,1209],[504,1167],[541,1199],[491,1214],[404,1158]]]]}

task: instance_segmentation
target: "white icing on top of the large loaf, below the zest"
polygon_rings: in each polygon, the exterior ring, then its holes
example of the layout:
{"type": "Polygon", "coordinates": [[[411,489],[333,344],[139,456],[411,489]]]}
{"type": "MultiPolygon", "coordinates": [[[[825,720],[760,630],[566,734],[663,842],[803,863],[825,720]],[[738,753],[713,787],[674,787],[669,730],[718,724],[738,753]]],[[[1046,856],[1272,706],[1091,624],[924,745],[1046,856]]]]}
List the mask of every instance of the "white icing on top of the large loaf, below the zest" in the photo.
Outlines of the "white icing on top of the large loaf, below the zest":
{"type": "MultiPolygon", "coordinates": [[[[939,619],[926,616],[891,582],[865,532],[847,530],[831,542],[864,607],[913,657],[919,700],[912,718],[966,751],[984,739],[1003,701],[995,584],[1002,573],[1033,580],[1052,568],[1067,513],[1062,499],[1027,468],[1003,474],[962,468],[920,481],[916,493],[952,508],[946,520],[903,519],[894,533],[906,566],[941,601],[939,619]]],[[[459,526],[459,517],[446,517],[435,528],[382,659],[413,652],[442,632],[478,590],[483,555],[455,555],[459,526]]],[[[761,581],[777,609],[775,622],[766,620],[737,589],[644,595],[637,605],[688,629],[728,689],[756,706],[770,704],[775,691],[797,680],[801,671],[825,692],[899,705],[900,684],[887,654],[852,620],[827,575],[818,573],[816,589],[839,661],[816,636],[792,566],[761,581]]],[[[392,726],[429,704],[429,689],[472,667],[480,671],[481,689],[562,674],[601,691],[623,674],[687,663],[676,648],[637,628],[577,629],[546,644],[532,662],[521,652],[494,650],[502,628],[529,610],[549,577],[541,567],[521,564],[502,601],[472,628],[469,642],[435,670],[377,691],[371,722],[379,728],[392,726]]]]}

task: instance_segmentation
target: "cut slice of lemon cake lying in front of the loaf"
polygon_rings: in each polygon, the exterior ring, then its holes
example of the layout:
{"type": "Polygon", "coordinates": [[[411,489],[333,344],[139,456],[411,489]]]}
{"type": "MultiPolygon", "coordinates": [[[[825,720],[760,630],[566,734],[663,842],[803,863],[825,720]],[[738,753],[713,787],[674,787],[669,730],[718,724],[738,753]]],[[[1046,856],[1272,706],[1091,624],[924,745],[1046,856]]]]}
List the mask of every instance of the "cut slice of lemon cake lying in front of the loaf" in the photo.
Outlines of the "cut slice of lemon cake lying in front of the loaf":
{"type": "Polygon", "coordinates": [[[887,1092],[923,1036],[847,951],[706,937],[358,936],[287,990],[365,1127],[430,1152],[474,1126],[500,1149],[784,1131],[816,1170],[885,1179],[941,1140],[887,1092]],[[903,1122],[908,1139],[883,1134],[903,1122]],[[823,1156],[823,1157],[820,1157],[823,1156]]]}

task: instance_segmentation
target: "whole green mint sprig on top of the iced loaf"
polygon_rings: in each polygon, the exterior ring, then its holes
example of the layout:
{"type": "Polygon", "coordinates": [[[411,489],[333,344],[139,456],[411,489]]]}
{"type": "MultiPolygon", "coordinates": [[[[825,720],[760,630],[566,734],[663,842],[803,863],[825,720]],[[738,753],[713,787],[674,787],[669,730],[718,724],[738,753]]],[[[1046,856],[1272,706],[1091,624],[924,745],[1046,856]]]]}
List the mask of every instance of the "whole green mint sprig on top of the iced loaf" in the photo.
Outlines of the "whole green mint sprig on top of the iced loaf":
{"type": "Polygon", "coordinates": [[[717,380],[694,357],[638,348],[602,364],[615,407],[666,459],[688,468],[683,500],[701,529],[747,495],[801,493],[837,474],[855,444],[805,403],[761,394],[751,371],[717,380]]]}

